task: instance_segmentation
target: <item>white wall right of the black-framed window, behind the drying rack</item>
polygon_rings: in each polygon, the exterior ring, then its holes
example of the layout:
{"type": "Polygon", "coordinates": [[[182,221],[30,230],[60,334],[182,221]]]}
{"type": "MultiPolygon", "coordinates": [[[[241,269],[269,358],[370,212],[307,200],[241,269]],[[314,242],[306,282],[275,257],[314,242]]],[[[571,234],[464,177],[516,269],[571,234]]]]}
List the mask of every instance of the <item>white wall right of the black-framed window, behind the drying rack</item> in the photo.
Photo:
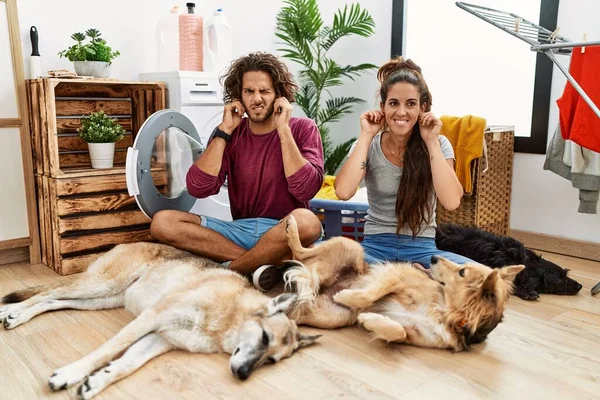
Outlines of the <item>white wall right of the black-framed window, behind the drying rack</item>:
{"type": "MultiPolygon", "coordinates": [[[[600,40],[600,2],[589,0],[562,0],[558,23],[560,34],[573,41],[600,40]]],[[[568,65],[568,56],[557,56],[568,65]]],[[[566,78],[555,66],[552,78],[549,139],[558,124],[558,99],[564,90],[566,78]]],[[[598,134],[598,133],[596,133],[598,134]]],[[[578,190],[571,182],[544,171],[545,156],[517,153],[513,170],[511,228],[540,232],[553,236],[600,243],[600,214],[580,214],[578,190]]],[[[600,212],[600,205],[598,207],[600,212]]]]}

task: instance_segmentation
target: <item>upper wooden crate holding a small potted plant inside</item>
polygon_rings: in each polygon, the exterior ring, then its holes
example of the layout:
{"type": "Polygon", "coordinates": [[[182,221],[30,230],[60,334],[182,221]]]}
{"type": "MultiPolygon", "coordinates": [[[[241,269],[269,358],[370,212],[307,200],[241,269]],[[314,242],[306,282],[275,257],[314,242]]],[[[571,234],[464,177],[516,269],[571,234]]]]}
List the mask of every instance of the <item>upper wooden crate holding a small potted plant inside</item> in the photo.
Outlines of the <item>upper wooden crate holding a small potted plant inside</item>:
{"type": "Polygon", "coordinates": [[[30,108],[33,164],[36,174],[60,177],[91,169],[87,143],[77,135],[82,118],[103,110],[126,131],[115,146],[115,168],[125,165],[144,121],[165,108],[161,82],[31,79],[26,82],[30,108]]]}

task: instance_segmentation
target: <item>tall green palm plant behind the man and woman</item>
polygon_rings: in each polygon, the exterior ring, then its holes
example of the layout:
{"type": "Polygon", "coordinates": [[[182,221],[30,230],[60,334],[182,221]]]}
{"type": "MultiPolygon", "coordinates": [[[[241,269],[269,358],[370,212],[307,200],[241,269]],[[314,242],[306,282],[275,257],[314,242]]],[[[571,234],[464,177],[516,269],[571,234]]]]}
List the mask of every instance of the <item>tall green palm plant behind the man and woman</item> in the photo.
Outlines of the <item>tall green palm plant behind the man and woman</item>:
{"type": "Polygon", "coordinates": [[[345,36],[371,36],[375,22],[359,4],[339,9],[331,26],[324,26],[316,0],[285,0],[284,4],[277,14],[275,34],[282,40],[278,43],[285,47],[278,50],[283,53],[283,57],[302,67],[296,100],[306,116],[316,122],[323,142],[325,173],[334,174],[356,139],[350,139],[334,148],[328,124],[339,121],[342,116],[352,112],[353,105],[364,103],[364,100],[357,97],[333,97],[329,88],[341,86],[343,78],[354,80],[377,66],[342,66],[328,57],[327,52],[345,36]]]}

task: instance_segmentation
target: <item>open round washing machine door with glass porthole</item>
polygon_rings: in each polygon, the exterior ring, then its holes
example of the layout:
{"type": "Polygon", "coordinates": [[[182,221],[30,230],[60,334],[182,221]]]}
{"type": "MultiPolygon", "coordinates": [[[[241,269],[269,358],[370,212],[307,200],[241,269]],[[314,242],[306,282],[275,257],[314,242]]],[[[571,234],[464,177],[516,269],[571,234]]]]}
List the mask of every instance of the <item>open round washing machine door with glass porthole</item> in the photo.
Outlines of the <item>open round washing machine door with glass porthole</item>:
{"type": "Polygon", "coordinates": [[[196,198],[186,189],[188,169],[205,147],[192,122],[175,110],[152,114],[127,149],[127,190],[144,214],[190,211],[196,198]]]}

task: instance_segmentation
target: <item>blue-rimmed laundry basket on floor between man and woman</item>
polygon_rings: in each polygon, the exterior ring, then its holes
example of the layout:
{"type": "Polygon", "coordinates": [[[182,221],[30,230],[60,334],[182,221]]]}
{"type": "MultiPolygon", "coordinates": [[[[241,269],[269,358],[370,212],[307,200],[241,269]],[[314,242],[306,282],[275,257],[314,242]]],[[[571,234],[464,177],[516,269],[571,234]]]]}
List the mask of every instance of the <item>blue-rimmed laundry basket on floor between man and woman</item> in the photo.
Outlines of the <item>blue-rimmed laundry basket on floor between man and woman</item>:
{"type": "Polygon", "coordinates": [[[369,208],[367,203],[313,199],[310,201],[310,208],[323,224],[325,240],[345,236],[362,242],[365,216],[369,208]]]}

